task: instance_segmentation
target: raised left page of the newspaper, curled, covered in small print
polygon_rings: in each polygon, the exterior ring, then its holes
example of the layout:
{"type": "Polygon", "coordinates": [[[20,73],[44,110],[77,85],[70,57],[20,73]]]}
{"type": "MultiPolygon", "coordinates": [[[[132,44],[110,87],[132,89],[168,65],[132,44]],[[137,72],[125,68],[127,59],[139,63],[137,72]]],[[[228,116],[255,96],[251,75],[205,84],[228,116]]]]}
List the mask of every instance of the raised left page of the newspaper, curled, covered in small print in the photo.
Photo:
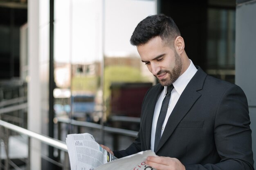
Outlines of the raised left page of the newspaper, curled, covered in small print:
{"type": "Polygon", "coordinates": [[[71,170],[93,170],[117,159],[95,142],[89,133],[67,135],[66,144],[71,170]]]}

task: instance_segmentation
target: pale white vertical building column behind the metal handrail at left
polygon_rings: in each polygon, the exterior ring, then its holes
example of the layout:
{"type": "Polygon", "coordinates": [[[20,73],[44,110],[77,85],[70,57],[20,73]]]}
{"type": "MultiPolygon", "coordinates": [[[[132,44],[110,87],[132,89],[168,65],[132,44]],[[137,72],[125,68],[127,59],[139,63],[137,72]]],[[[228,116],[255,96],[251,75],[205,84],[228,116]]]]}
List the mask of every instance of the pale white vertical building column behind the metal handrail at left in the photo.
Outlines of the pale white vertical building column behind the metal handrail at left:
{"type": "MultiPolygon", "coordinates": [[[[41,133],[39,73],[39,0],[28,1],[28,129],[41,133]]],[[[30,140],[30,169],[41,169],[41,143],[30,140]]]]}

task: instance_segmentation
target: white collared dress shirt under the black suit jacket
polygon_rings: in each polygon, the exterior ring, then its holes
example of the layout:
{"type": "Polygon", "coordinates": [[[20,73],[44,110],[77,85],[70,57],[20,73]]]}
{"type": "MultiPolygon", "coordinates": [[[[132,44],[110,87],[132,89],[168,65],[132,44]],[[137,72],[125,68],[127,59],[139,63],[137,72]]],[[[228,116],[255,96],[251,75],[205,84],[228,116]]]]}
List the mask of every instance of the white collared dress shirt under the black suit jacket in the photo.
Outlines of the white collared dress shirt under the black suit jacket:
{"type": "MultiPolygon", "coordinates": [[[[197,69],[195,68],[195,65],[190,60],[189,68],[173,83],[173,91],[171,92],[171,98],[169,101],[166,117],[164,120],[164,124],[162,126],[161,136],[164,132],[164,128],[166,126],[166,123],[168,121],[169,116],[171,115],[171,112],[173,111],[173,108],[175,107],[177,101],[180,98],[180,95],[186,88],[186,85],[188,85],[191,78],[195,75],[197,72],[197,69]]],[[[153,116],[153,122],[152,122],[152,129],[151,129],[151,150],[154,150],[155,146],[155,130],[157,127],[157,119],[159,117],[160,109],[162,106],[162,102],[164,100],[165,94],[167,92],[167,86],[164,86],[164,89],[162,93],[158,96],[157,103],[155,105],[155,111],[153,116]]]]}

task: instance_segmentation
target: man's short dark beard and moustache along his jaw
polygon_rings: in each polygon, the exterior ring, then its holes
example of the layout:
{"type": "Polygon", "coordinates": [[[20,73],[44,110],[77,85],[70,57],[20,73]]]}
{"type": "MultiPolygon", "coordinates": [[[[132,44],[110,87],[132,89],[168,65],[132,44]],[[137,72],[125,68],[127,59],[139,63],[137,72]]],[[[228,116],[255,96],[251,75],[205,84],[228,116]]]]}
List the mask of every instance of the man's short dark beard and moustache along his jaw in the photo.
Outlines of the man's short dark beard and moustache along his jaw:
{"type": "Polygon", "coordinates": [[[169,74],[168,78],[164,78],[162,80],[158,78],[157,79],[162,86],[169,86],[179,78],[181,70],[182,70],[182,61],[179,54],[177,54],[177,52],[175,51],[175,66],[173,70],[160,70],[157,73],[157,75],[160,75],[166,72],[167,74],[169,74]]]}

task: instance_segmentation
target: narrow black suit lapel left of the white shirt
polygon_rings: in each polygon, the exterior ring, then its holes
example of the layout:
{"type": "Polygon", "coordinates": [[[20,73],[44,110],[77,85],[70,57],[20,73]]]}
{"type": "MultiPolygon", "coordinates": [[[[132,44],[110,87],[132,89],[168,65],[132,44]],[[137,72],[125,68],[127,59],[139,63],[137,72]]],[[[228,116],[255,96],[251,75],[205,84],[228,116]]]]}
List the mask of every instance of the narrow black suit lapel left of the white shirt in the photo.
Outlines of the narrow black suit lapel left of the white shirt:
{"type": "Polygon", "coordinates": [[[154,111],[155,111],[155,105],[157,102],[157,98],[159,96],[159,94],[162,92],[162,90],[164,89],[164,87],[160,84],[157,85],[156,89],[152,92],[152,95],[148,95],[148,96],[152,96],[151,100],[149,100],[148,105],[146,106],[147,109],[147,113],[146,113],[146,124],[144,126],[145,131],[146,131],[146,148],[147,150],[150,149],[150,142],[151,142],[151,129],[152,129],[152,122],[153,122],[153,116],[154,116],[154,111]]]}

